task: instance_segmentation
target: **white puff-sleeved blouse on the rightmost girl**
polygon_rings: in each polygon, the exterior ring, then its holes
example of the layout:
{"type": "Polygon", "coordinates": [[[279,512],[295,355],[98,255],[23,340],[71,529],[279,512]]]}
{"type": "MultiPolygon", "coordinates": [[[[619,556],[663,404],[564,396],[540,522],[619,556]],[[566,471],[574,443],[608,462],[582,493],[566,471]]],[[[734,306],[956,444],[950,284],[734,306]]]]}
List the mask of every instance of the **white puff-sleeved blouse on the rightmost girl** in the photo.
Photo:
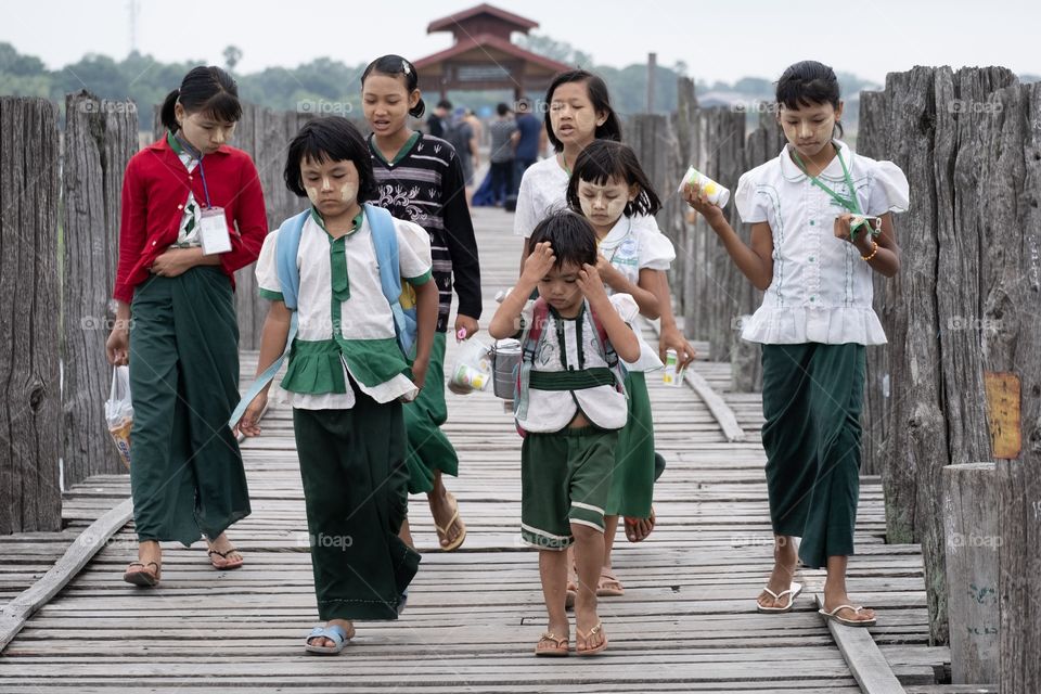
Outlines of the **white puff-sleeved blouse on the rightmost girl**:
{"type": "MultiPolygon", "coordinates": [[[[849,190],[846,162],[865,215],[908,208],[908,179],[891,162],[854,154],[835,141],[837,156],[818,177],[841,196],[849,190]]],[[[851,243],[835,237],[847,213],[792,160],[788,146],[741,177],[734,204],[745,223],[768,222],[773,235],[773,280],[742,337],[768,345],[823,343],[882,345],[886,334],[872,308],[873,270],[851,243]]]]}

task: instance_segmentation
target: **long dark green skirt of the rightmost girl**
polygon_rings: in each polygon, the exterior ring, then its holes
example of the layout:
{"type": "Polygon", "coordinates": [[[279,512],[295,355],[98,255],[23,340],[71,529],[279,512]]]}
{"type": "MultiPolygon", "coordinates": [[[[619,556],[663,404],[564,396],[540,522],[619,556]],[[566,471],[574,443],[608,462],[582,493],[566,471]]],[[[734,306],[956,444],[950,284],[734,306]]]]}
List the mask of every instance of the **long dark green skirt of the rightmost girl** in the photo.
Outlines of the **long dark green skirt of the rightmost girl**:
{"type": "Polygon", "coordinates": [[[865,355],[857,344],[762,346],[770,520],[802,538],[810,568],[853,554],[865,355]]]}

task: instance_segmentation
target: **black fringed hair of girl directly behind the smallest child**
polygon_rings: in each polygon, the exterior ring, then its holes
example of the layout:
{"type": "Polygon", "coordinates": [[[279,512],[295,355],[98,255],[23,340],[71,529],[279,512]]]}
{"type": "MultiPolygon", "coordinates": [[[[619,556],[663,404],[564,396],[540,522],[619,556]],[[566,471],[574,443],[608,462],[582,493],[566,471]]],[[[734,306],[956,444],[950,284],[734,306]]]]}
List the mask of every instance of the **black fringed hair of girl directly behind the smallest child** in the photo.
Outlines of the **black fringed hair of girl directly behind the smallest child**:
{"type": "Polygon", "coordinates": [[[578,197],[580,180],[604,185],[611,179],[624,180],[626,184],[640,189],[637,197],[626,203],[626,217],[656,215],[661,209],[661,201],[640,166],[635,152],[629,145],[612,140],[594,140],[575,159],[571,178],[567,181],[568,206],[576,213],[582,211],[578,197]]]}

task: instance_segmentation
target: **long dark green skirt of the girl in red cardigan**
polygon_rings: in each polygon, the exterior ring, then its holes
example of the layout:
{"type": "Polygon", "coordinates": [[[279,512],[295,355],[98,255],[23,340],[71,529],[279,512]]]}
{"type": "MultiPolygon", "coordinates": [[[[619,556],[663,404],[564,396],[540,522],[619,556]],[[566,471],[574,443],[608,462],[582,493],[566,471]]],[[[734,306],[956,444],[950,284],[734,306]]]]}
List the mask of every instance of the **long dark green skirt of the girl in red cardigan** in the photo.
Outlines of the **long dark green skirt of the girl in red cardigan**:
{"type": "Polygon", "coordinates": [[[228,417],[239,403],[239,322],[231,282],[197,267],[151,277],[131,304],[130,489],[140,541],[216,538],[249,515],[228,417]]]}

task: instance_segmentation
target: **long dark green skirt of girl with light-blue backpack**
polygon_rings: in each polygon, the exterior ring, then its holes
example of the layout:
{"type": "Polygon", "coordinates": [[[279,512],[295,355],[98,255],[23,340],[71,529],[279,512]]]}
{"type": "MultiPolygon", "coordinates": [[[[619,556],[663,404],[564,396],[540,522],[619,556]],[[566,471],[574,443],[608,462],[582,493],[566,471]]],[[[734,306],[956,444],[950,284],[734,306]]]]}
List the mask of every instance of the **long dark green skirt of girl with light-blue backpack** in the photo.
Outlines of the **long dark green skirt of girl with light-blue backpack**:
{"type": "Polygon", "coordinates": [[[355,389],[349,410],[293,410],[318,615],[397,619],[420,566],[408,512],[401,403],[355,389]]]}

